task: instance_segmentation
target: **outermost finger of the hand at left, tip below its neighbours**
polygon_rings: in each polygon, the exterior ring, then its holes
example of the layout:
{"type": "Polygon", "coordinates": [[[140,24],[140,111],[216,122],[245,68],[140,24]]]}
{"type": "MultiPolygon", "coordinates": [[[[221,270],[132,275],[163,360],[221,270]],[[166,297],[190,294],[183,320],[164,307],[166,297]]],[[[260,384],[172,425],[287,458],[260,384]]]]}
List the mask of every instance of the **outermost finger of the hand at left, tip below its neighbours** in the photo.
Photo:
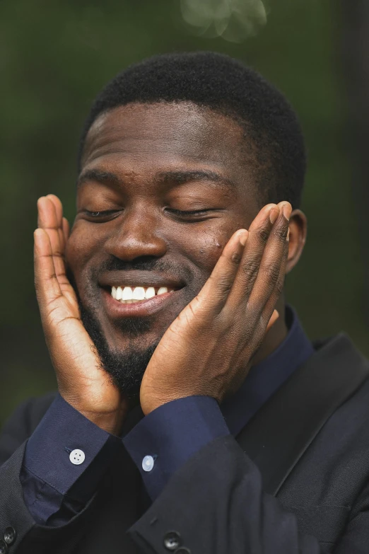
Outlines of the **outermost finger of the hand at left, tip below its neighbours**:
{"type": "Polygon", "coordinates": [[[45,229],[36,229],[35,238],[35,287],[40,310],[61,296],[61,289],[55,273],[54,258],[49,235],[45,229]]]}

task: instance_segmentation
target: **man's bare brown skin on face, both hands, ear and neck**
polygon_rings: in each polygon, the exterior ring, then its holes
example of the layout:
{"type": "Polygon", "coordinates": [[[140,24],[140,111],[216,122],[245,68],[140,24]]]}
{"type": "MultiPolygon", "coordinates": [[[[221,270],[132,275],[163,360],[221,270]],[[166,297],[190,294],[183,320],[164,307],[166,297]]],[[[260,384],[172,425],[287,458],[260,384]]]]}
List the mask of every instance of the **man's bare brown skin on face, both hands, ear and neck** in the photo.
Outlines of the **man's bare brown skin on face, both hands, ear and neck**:
{"type": "Polygon", "coordinates": [[[221,402],[286,336],[274,308],[283,313],[284,275],[303,250],[306,219],[288,202],[260,211],[243,146],[236,122],[191,104],[116,108],[88,132],[69,238],[59,199],[38,202],[36,289],[59,391],[103,429],[119,433],[128,403],[81,325],[64,253],[112,350],[162,337],[141,384],[146,414],[192,394],[221,402]],[[154,270],[103,270],[112,259],[151,260],[154,270]],[[139,316],[150,320],[146,331],[129,336],[108,291],[150,279],[175,292],[139,316]]]}

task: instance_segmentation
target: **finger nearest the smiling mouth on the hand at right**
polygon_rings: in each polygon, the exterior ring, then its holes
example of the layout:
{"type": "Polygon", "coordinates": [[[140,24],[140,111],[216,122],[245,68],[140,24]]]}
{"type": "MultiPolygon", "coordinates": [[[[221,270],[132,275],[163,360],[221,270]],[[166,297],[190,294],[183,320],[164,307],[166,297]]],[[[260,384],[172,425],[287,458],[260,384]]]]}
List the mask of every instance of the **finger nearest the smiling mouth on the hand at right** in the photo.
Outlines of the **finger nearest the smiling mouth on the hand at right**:
{"type": "Polygon", "coordinates": [[[192,311],[201,310],[213,314],[221,312],[233,287],[247,239],[248,232],[246,229],[239,229],[233,233],[223,248],[223,252],[209,279],[196,298],[189,304],[192,311]]]}

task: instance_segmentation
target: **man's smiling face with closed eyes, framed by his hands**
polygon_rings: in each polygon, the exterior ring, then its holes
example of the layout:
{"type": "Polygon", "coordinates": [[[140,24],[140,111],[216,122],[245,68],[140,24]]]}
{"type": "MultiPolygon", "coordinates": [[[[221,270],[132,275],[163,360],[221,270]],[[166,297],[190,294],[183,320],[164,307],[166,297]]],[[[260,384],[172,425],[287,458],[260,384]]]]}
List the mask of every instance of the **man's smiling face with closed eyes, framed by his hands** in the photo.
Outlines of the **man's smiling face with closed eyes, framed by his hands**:
{"type": "Polygon", "coordinates": [[[83,323],[122,389],[137,388],[165,330],[259,211],[245,150],[236,122],[188,103],[116,108],[88,132],[66,258],[83,323]],[[112,287],[168,293],[127,304],[112,287]]]}

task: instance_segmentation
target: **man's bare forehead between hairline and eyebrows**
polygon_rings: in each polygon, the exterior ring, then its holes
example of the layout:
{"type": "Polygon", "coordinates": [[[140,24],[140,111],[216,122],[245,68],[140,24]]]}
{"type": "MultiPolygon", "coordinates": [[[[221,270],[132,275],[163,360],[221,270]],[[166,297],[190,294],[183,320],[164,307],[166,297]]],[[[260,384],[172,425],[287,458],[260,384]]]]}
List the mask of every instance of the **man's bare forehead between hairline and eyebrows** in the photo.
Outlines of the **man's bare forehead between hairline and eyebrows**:
{"type": "MultiPolygon", "coordinates": [[[[112,166],[152,174],[191,167],[247,183],[247,161],[237,122],[192,103],[131,104],[95,120],[86,137],[82,169],[112,166]]],[[[251,175],[251,172],[250,172],[251,175]]]]}

